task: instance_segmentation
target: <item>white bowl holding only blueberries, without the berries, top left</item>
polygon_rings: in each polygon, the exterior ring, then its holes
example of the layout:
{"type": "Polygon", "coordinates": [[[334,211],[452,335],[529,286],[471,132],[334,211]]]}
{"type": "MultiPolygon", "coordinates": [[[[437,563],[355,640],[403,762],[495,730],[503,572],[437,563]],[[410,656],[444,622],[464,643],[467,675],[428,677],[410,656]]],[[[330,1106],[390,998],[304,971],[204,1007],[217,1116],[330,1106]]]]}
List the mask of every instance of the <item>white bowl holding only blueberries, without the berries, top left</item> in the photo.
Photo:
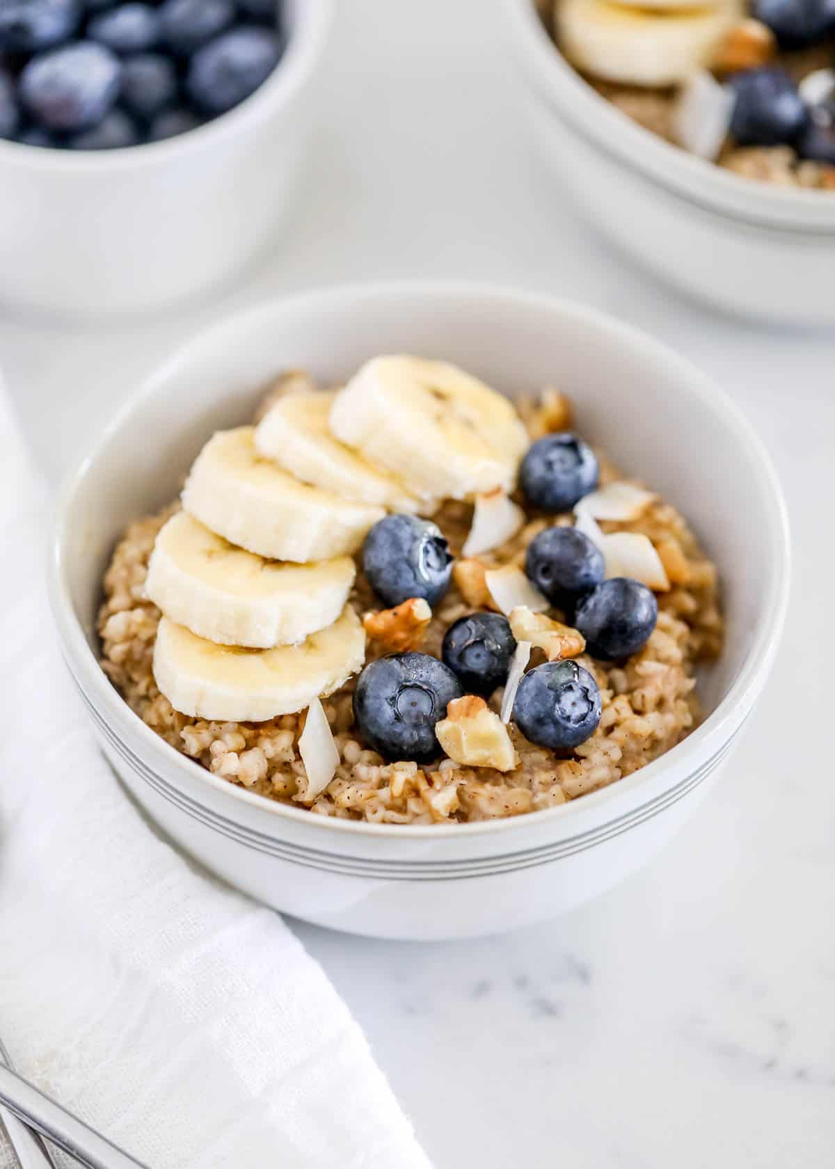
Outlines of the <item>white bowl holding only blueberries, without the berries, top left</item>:
{"type": "Polygon", "coordinates": [[[333,0],[287,0],[289,43],[237,109],[167,141],[0,141],[0,299],[61,316],[202,295],[281,224],[302,173],[333,0]]]}

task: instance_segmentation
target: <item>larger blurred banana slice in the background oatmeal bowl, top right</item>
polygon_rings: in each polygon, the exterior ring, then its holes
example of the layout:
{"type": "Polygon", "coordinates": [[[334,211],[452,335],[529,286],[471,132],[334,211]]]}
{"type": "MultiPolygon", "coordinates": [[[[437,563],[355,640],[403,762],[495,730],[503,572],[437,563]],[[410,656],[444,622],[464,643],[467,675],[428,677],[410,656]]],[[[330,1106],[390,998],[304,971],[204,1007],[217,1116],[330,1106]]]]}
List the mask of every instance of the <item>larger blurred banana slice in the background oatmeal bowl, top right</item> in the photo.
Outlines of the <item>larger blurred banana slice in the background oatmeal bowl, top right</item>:
{"type": "Polygon", "coordinates": [[[736,0],[663,11],[610,0],[563,0],[559,44],[572,64],[595,77],[676,85],[710,63],[738,18],[736,0]]]}

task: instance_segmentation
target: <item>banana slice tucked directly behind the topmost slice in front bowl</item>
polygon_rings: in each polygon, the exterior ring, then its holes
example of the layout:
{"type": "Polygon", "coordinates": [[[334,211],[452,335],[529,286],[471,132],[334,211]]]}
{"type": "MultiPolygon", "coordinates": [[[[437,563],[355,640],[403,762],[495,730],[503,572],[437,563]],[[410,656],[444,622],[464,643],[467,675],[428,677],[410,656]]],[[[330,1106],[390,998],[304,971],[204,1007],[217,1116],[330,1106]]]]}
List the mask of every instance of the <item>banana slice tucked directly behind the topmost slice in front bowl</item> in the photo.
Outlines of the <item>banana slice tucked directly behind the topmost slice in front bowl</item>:
{"type": "Polygon", "coordinates": [[[255,430],[255,445],[303,483],[344,499],[414,512],[418,500],[398,480],[378,471],[331,434],[327,419],[336,394],[294,394],[272,406],[255,430]]]}

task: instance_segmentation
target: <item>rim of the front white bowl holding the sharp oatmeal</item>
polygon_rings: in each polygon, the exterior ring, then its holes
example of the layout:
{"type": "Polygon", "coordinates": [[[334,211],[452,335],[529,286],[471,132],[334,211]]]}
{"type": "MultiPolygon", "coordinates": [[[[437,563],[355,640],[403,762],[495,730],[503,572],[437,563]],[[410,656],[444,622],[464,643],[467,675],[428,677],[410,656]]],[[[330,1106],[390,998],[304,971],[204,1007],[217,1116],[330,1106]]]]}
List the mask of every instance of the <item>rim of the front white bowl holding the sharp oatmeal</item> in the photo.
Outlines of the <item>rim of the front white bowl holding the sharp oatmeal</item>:
{"type": "Polygon", "coordinates": [[[518,831],[519,829],[524,829],[526,823],[531,824],[532,817],[536,818],[537,824],[543,824],[546,822],[546,818],[554,821],[558,817],[577,816],[578,804],[579,810],[582,811],[592,811],[606,804],[616,807],[617,803],[623,802],[630,794],[636,793],[642,787],[648,787],[664,768],[669,767],[671,761],[682,765],[689,758],[691,765],[689,769],[693,770],[699,762],[709,758],[715,743],[727,741],[739,728],[753,707],[767,678],[780,642],[788,607],[789,552],[788,516],[782,490],[772,459],[760,438],[736,402],[712,379],[703,374],[690,361],[678,357],[667,345],[656,341],[641,330],[632,325],[626,325],[598,309],[541,293],[520,292],[502,285],[479,282],[384,281],[344,284],[330,289],[313,289],[251,306],[202,330],[191,340],[170,353],[156,372],[143,382],[140,388],[123,404],[110,422],[104,426],[89,452],[64,477],[55,504],[55,523],[48,563],[48,586],[53,614],[61,641],[68,653],[68,664],[71,662],[75,666],[71,669],[71,673],[75,676],[77,684],[84,687],[89,699],[97,705],[113,729],[113,733],[123,741],[124,734],[122,729],[127,734],[138,735],[144,749],[151,756],[159,758],[163,763],[184,775],[187,772],[192,779],[195,775],[201,776],[203,782],[209,787],[223,793],[223,797],[228,800],[229,809],[234,808],[236,801],[241,801],[250,808],[260,809],[262,812],[272,816],[274,824],[278,824],[282,818],[289,817],[297,823],[309,824],[313,830],[323,832],[337,831],[350,835],[394,838],[407,836],[410,839],[421,837],[451,839],[462,835],[503,835],[505,832],[518,831]],[[95,464],[99,454],[108,447],[113,435],[124,428],[131,416],[142,408],[147,399],[154,396],[160,385],[166,383],[178,371],[188,367],[194,354],[200,352],[208,339],[216,340],[225,332],[235,334],[243,323],[255,320],[258,317],[272,317],[277,311],[309,311],[316,313],[320,306],[327,304],[331,310],[334,306],[344,306],[345,311],[350,313],[356,310],[360,300],[374,302],[384,299],[391,305],[392,300],[409,300],[416,296],[427,299],[454,298],[467,305],[490,307],[492,310],[512,306],[515,310],[559,313],[584,324],[591,324],[610,334],[616,334],[624,344],[639,351],[648,360],[655,360],[668,369],[671,369],[681,388],[685,388],[691,396],[706,403],[712,413],[722,417],[723,424],[733,430],[739,444],[747,450],[754,473],[759,478],[759,487],[771,503],[770,512],[773,517],[772,535],[775,546],[779,548],[779,554],[774,556],[773,575],[767,582],[768,595],[764,617],[759,623],[753,643],[745,655],[736,678],[718,706],[681,743],[677,743],[664,755],[647,763],[637,772],[633,772],[632,775],[624,776],[608,787],[584,795],[579,800],[568,801],[555,808],[529,812],[524,816],[511,816],[502,819],[477,821],[463,824],[372,824],[366,821],[349,821],[336,816],[315,816],[308,809],[294,808],[289,804],[269,800],[265,796],[247,791],[229,783],[227,780],[213,775],[167,743],[134,714],[127,703],[125,703],[101,669],[92,649],[88,644],[65,586],[63,559],[65,516],[69,504],[83,483],[88,470],[95,464]]]}

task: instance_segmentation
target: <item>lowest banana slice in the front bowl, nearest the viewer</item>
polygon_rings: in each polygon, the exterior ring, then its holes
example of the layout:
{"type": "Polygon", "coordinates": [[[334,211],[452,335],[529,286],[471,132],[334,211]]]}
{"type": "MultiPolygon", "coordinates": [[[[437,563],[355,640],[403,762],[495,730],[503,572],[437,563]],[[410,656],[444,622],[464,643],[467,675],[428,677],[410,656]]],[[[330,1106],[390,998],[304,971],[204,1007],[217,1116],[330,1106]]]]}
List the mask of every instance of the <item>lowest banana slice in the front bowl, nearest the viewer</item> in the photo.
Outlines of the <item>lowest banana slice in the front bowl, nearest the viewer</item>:
{"type": "Polygon", "coordinates": [[[295,714],[338,690],[365,660],[365,632],[347,606],[338,621],[301,645],[248,650],[216,645],[163,617],[153,676],[180,714],[223,722],[264,722],[295,714]]]}

